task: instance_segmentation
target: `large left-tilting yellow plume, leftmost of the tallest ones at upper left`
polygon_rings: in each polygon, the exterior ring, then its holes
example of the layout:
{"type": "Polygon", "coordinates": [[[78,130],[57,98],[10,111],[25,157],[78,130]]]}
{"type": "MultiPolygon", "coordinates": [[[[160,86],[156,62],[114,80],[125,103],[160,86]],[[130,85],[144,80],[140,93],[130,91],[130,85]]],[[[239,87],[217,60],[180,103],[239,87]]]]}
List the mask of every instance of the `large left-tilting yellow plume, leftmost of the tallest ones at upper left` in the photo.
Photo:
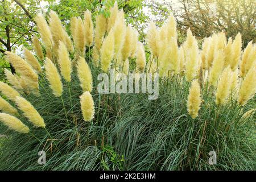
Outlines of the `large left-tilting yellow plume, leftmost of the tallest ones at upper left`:
{"type": "Polygon", "coordinates": [[[37,14],[35,17],[35,21],[44,45],[47,48],[51,49],[53,46],[53,39],[52,39],[51,30],[49,29],[46,19],[43,17],[42,14],[37,14]]]}

